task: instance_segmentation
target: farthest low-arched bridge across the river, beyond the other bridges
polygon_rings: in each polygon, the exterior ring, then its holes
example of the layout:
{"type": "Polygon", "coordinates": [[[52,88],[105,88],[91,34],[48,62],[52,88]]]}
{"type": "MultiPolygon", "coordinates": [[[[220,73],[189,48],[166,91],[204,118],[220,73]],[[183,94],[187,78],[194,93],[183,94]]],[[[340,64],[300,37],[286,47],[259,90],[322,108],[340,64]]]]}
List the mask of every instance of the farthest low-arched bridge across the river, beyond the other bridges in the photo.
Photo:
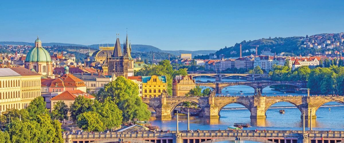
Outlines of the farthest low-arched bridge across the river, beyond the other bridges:
{"type": "Polygon", "coordinates": [[[255,78],[258,77],[268,77],[268,74],[188,74],[189,76],[198,77],[198,76],[207,76],[207,77],[213,77],[216,81],[222,81],[222,78],[230,77],[230,76],[241,76],[246,77],[247,80],[255,80],[255,78]]]}

